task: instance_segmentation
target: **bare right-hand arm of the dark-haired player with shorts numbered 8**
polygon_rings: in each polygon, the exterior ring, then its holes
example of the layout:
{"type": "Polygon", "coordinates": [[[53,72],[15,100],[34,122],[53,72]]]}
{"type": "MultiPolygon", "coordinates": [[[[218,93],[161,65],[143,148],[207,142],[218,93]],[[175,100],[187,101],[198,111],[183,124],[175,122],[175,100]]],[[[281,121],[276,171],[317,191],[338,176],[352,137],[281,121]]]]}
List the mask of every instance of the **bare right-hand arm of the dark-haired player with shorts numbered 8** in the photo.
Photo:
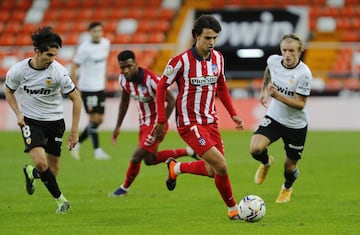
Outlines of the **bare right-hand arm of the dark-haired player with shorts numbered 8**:
{"type": "Polygon", "coordinates": [[[67,94],[73,103],[72,108],[72,123],[70,134],[68,138],[68,149],[71,150],[79,141],[78,129],[81,114],[82,101],[81,96],[77,89],[74,89],[71,93],[67,94]]]}

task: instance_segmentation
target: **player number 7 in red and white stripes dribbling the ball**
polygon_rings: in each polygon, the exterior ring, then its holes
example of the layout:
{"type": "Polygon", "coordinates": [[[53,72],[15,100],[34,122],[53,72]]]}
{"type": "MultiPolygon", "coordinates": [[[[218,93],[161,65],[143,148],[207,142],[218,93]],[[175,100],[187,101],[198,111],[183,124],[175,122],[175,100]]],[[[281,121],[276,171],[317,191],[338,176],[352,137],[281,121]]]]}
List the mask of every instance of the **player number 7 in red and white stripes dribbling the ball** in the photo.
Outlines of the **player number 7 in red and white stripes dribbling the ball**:
{"type": "Polygon", "coordinates": [[[192,29],[195,39],[193,47],[168,62],[156,90],[158,123],[154,135],[162,136],[165,130],[165,94],[167,87],[176,82],[179,89],[176,98],[177,129],[202,160],[177,162],[169,159],[167,188],[174,190],[176,178],[181,173],[213,177],[215,186],[228,207],[229,218],[239,220],[218,127],[215,95],[226,107],[236,129],[242,130],[243,123],[236,114],[225,83],[223,56],[214,49],[220,31],[221,25],[215,17],[201,15],[192,29]]]}

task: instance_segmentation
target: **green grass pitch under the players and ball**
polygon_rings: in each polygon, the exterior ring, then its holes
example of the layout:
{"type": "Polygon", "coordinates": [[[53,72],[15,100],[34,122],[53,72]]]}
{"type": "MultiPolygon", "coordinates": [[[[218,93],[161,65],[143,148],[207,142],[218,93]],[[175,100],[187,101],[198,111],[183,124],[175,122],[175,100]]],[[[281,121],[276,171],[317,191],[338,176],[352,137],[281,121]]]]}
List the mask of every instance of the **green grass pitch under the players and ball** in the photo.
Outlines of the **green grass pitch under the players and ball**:
{"type": "MultiPolygon", "coordinates": [[[[280,205],[275,199],[283,183],[282,143],[270,147],[275,164],[266,181],[255,185],[259,163],[248,153],[251,133],[222,134],[236,200],[255,194],[266,202],[265,218],[258,223],[230,221],[212,179],[184,174],[169,192],[165,164],[142,165],[128,196],[108,198],[124,179],[136,132],[122,132],[117,145],[111,144],[110,132],[101,132],[109,161],[94,160],[90,141],[82,145],[80,161],[63,144],[57,179],[72,207],[66,215],[55,214],[56,203],[40,181],[34,195],[26,194],[22,167],[32,162],[22,152],[20,133],[1,132],[0,234],[360,233],[359,132],[309,132],[292,200],[280,205]]],[[[169,132],[160,149],[183,146],[177,133],[169,132]]]]}

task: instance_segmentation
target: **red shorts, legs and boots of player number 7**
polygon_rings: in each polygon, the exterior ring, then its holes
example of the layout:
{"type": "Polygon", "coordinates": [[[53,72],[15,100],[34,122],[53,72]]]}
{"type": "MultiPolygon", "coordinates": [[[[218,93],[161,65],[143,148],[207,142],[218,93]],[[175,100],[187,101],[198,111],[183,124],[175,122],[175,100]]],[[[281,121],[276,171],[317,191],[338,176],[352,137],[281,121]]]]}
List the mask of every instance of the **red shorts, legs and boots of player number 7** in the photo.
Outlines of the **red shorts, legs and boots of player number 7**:
{"type": "Polygon", "coordinates": [[[227,172],[227,163],[223,156],[224,146],[217,125],[184,127],[178,128],[178,131],[184,141],[203,160],[187,163],[176,163],[176,160],[168,161],[169,176],[166,181],[168,189],[175,188],[176,176],[180,173],[213,176],[215,186],[228,207],[229,218],[240,219],[227,172]]]}

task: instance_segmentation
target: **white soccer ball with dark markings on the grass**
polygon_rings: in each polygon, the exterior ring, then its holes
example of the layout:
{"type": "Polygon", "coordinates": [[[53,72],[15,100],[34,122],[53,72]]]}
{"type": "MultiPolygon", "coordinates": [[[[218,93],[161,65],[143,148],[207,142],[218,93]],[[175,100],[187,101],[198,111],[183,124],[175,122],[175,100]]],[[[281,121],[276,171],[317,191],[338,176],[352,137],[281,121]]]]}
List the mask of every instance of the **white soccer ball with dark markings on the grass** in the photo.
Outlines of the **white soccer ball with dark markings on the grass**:
{"type": "Polygon", "coordinates": [[[265,202],[259,196],[245,196],[239,203],[240,218],[247,222],[260,221],[265,216],[265,213],[265,202]]]}

